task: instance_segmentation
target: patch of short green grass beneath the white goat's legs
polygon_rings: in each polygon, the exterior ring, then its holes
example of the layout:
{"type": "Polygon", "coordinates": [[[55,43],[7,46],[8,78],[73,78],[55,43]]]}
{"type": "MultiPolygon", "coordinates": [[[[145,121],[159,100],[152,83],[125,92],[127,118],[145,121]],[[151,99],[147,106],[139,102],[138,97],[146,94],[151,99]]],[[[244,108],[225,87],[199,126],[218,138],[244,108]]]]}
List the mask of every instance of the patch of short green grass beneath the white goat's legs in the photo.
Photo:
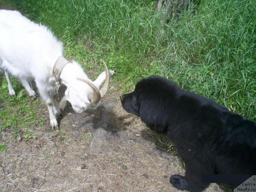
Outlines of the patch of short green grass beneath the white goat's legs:
{"type": "Polygon", "coordinates": [[[26,141],[36,139],[34,128],[42,128],[45,121],[40,116],[43,104],[40,100],[31,101],[22,85],[14,78],[11,80],[16,97],[9,96],[5,78],[0,87],[0,131],[11,131],[12,137],[26,141]]]}

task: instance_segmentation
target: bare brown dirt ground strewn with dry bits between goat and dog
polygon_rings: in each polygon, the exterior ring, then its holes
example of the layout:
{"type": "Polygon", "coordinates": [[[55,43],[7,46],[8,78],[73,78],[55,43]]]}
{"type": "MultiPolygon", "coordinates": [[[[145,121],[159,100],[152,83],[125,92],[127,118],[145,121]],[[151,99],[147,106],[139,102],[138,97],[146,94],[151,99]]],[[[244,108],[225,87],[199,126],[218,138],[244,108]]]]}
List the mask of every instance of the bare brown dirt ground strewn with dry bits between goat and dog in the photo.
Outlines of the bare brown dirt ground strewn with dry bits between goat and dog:
{"type": "MultiPolygon", "coordinates": [[[[82,114],[67,105],[60,131],[52,131],[46,121],[44,128],[34,128],[37,140],[1,132],[8,150],[0,152],[0,191],[178,191],[169,178],[184,175],[182,161],[122,109],[118,96],[107,94],[97,110],[82,114]]],[[[46,107],[42,115],[48,119],[46,107]]],[[[206,189],[221,190],[217,184],[206,189]]]]}

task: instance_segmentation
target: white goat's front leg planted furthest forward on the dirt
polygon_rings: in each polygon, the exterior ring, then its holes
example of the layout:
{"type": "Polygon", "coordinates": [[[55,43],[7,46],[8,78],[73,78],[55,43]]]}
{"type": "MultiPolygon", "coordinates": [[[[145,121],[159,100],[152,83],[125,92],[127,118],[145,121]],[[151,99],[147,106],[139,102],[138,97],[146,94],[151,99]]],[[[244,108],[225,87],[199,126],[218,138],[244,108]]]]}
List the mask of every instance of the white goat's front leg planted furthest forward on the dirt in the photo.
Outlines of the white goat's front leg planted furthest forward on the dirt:
{"type": "Polygon", "coordinates": [[[54,130],[55,128],[59,129],[58,126],[58,122],[56,119],[56,115],[54,113],[54,97],[53,97],[53,90],[46,90],[46,86],[44,85],[44,83],[40,83],[38,81],[36,81],[36,85],[38,88],[38,92],[40,93],[40,96],[43,100],[45,100],[46,105],[48,107],[48,111],[49,111],[49,116],[50,116],[50,126],[52,128],[52,130],[54,130]]]}

